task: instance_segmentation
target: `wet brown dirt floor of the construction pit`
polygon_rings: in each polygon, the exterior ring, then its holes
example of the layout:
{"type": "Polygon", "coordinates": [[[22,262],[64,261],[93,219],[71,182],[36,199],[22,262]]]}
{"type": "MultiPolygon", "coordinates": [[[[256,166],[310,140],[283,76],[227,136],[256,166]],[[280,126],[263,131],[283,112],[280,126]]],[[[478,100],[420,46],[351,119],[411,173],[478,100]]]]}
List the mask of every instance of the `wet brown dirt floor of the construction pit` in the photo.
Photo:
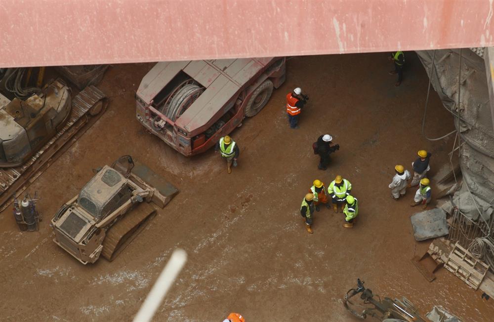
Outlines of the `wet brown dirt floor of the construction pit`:
{"type": "MultiPolygon", "coordinates": [[[[421,135],[427,77],[416,56],[407,53],[400,87],[387,73],[393,66],[386,56],[288,60],[285,84],[232,133],[241,156],[230,175],[212,150],[187,159],[136,121],[134,92],[153,64],[111,67],[99,85],[111,97],[105,115],[28,189],[42,198],[40,231],[21,233],[11,209],[0,214],[0,320],[130,321],[171,251],[181,247],[188,262],[156,321],[222,321],[230,312],[247,322],[357,321],[342,305],[357,278],[375,293],[406,296],[423,315],[442,305],[463,321],[490,321],[492,300],[482,300],[480,291],[444,269],[429,283],[411,264],[430,242],[413,239],[414,191],[390,198],[394,165],[411,170],[416,151],[426,149],[433,175],[448,160],[453,139],[430,142],[421,135]],[[284,104],[296,86],[310,101],[292,130],[284,104]],[[341,149],[321,171],[311,144],[325,133],[341,149]],[[49,219],[92,177],[91,169],[124,154],[181,192],[116,260],[84,266],[51,241],[49,219]],[[344,229],[343,215],[324,208],[309,235],[302,198],[314,179],[328,185],[336,174],[352,182],[359,221],[344,229]]],[[[452,129],[432,92],[427,135],[452,129]]]]}

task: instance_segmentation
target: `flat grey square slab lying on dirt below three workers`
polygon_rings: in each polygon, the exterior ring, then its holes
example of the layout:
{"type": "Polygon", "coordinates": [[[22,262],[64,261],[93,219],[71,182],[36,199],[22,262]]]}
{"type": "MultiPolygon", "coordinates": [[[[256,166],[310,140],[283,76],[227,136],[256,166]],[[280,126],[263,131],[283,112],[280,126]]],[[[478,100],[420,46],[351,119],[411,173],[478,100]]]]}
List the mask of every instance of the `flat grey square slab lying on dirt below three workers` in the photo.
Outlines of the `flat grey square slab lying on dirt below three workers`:
{"type": "Polygon", "coordinates": [[[446,212],[441,208],[422,211],[410,217],[416,241],[448,235],[446,212]]]}

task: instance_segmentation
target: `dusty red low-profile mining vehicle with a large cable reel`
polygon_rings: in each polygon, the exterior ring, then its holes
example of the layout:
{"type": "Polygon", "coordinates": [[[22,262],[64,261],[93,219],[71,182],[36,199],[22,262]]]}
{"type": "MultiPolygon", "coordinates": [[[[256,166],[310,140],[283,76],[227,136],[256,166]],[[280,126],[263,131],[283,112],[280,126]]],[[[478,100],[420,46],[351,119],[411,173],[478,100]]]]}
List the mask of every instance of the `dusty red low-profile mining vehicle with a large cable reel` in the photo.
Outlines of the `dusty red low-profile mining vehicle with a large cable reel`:
{"type": "Polygon", "coordinates": [[[160,62],[135,94],[136,117],[185,156],[256,115],[285,81],[285,57],[160,62]]]}

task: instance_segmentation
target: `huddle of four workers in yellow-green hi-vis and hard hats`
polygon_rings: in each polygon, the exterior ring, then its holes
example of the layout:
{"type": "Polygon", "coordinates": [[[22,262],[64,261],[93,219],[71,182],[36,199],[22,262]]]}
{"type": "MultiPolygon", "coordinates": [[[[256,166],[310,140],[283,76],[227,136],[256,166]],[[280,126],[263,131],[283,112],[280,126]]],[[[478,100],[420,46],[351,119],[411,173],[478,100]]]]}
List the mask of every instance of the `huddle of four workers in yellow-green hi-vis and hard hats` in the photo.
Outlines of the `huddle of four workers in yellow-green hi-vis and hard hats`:
{"type": "MultiPolygon", "coordinates": [[[[352,228],[359,214],[359,201],[351,195],[352,184],[347,179],[337,175],[328,186],[328,195],[331,197],[334,213],[338,213],[338,208],[344,215],[345,228],[352,228]]],[[[326,187],[324,183],[316,179],[312,187],[309,188],[309,193],[305,195],[300,206],[300,215],[305,222],[305,227],[309,234],[312,234],[312,217],[314,211],[320,211],[320,204],[324,204],[326,208],[331,208],[326,195],[326,187]]]]}

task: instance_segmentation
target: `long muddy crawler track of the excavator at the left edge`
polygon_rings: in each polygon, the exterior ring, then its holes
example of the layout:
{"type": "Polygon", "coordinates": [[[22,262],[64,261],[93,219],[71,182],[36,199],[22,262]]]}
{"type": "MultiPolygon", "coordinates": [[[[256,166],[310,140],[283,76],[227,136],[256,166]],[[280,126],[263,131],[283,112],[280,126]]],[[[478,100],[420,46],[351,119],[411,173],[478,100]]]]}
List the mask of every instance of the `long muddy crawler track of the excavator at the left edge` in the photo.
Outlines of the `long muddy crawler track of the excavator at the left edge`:
{"type": "Polygon", "coordinates": [[[95,86],[84,88],[72,99],[70,116],[37,153],[23,165],[0,168],[0,211],[13,201],[14,193],[20,194],[57,160],[82,134],[103,114],[108,105],[106,95],[95,86]],[[91,107],[98,102],[103,107],[97,115],[91,116],[91,107]]]}

